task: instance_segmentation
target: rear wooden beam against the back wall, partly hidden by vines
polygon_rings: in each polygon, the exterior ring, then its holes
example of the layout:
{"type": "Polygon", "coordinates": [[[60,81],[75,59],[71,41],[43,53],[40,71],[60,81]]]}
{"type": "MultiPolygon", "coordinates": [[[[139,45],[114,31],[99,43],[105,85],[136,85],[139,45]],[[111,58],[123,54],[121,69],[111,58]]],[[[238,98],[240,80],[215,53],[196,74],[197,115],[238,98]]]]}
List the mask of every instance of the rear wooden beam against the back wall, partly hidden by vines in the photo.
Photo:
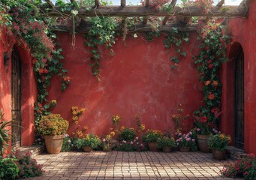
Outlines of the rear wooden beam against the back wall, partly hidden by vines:
{"type": "MultiPolygon", "coordinates": [[[[188,26],[177,26],[176,24],[168,24],[166,26],[160,27],[158,30],[162,32],[171,31],[173,27],[177,28],[179,31],[196,31],[198,24],[191,24],[188,26]]],[[[81,24],[79,27],[77,27],[77,32],[86,32],[89,31],[90,28],[92,28],[92,24],[85,23],[81,24]]],[[[122,31],[122,25],[116,28],[116,31],[122,31]]],[[[69,28],[66,26],[55,26],[50,27],[51,31],[70,31],[69,28]]],[[[152,31],[152,26],[150,25],[143,25],[143,24],[135,24],[134,26],[131,26],[131,28],[128,28],[128,32],[146,32],[146,31],[152,31]]]]}

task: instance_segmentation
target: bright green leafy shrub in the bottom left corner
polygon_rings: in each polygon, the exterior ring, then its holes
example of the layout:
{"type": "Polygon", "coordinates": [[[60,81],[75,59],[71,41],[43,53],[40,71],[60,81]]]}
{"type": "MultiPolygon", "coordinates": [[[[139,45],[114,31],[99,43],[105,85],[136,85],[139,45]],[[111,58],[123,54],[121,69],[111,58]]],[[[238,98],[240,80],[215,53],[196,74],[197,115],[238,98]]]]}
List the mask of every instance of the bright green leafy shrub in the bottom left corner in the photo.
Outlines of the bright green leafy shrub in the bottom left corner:
{"type": "Polygon", "coordinates": [[[15,163],[16,159],[12,157],[0,157],[0,179],[15,179],[19,174],[19,168],[15,163]]]}

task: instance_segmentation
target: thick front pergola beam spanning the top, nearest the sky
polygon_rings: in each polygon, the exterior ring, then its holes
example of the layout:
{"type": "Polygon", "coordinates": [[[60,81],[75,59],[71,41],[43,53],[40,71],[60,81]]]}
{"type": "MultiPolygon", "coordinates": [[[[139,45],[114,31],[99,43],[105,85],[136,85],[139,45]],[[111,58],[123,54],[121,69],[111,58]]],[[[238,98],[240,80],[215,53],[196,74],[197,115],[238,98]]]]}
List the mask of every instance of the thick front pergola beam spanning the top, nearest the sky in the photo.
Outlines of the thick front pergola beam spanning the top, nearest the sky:
{"type": "MultiPolygon", "coordinates": [[[[108,16],[108,17],[170,17],[170,16],[182,16],[182,17],[246,17],[248,14],[248,7],[227,6],[222,10],[212,7],[212,10],[206,13],[202,13],[201,10],[194,8],[192,10],[182,9],[181,7],[173,7],[171,13],[166,10],[156,11],[151,7],[141,6],[99,6],[93,10],[88,10],[86,7],[81,7],[78,10],[77,17],[95,17],[95,16],[108,16]]],[[[59,17],[60,7],[50,10],[47,13],[48,16],[59,17]]],[[[70,11],[65,11],[62,14],[70,15],[70,11]]]]}

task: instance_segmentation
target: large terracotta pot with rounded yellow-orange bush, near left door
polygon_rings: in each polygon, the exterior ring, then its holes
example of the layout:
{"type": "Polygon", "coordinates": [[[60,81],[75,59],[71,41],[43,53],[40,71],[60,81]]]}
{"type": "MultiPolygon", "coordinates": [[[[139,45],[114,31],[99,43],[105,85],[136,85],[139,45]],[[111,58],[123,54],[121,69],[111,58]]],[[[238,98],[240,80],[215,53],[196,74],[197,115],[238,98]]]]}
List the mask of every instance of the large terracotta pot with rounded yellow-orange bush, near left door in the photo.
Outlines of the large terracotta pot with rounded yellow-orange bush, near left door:
{"type": "Polygon", "coordinates": [[[59,154],[62,150],[62,141],[68,124],[68,121],[59,114],[44,115],[39,121],[38,132],[44,136],[49,154],[59,154]]]}

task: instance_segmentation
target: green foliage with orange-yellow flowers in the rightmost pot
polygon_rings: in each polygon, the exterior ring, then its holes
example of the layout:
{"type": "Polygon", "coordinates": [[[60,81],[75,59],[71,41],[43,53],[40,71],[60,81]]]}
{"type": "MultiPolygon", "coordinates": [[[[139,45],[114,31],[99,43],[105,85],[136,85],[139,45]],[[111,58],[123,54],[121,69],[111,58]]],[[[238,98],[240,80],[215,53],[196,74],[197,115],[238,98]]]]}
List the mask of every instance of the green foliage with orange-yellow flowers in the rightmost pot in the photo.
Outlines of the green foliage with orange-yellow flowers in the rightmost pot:
{"type": "Polygon", "coordinates": [[[217,133],[215,135],[210,135],[208,139],[209,148],[213,150],[224,151],[227,148],[228,143],[231,141],[230,136],[224,133],[217,133]]]}

